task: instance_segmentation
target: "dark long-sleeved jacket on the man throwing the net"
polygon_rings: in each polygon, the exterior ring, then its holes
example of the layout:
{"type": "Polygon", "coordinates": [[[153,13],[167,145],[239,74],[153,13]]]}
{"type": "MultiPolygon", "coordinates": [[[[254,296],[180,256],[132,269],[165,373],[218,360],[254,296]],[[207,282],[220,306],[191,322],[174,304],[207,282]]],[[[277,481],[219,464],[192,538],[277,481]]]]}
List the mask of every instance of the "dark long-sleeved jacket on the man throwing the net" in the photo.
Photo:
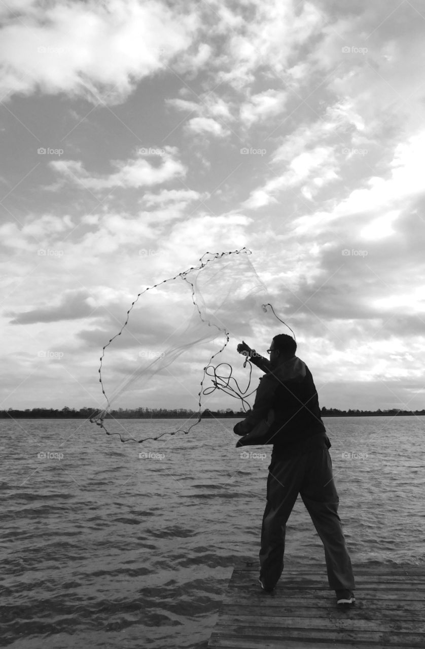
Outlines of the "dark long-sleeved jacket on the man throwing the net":
{"type": "Polygon", "coordinates": [[[330,441],[321,419],[313,376],[297,356],[274,369],[263,356],[250,361],[265,375],[260,379],[254,406],[234,432],[246,435],[239,446],[273,444],[273,457],[287,457],[330,441]],[[248,434],[248,435],[247,435],[248,434]]]}

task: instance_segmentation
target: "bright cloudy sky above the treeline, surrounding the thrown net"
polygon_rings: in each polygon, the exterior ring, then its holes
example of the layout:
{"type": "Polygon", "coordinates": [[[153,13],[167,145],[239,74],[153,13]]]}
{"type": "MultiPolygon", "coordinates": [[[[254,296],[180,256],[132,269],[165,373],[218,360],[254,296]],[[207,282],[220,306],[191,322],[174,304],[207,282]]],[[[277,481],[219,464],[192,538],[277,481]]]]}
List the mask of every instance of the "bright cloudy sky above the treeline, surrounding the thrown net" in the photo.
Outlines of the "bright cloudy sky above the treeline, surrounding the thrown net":
{"type": "MultiPolygon", "coordinates": [[[[0,14],[1,408],[101,406],[136,295],[244,246],[322,406],[424,408],[421,0],[0,14]]],[[[195,409],[206,359],[188,354],[132,404],[195,409]]]]}

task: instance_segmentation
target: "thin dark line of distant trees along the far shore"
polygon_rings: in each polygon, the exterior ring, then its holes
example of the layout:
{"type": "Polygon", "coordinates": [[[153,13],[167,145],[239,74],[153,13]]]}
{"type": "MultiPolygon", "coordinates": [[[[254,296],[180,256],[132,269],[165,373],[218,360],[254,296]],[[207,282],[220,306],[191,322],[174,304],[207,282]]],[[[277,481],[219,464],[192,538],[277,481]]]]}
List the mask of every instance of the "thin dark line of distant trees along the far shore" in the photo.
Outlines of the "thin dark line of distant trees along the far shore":
{"type": "MultiPolygon", "coordinates": [[[[99,413],[99,409],[94,408],[80,408],[80,410],[75,410],[75,408],[62,408],[62,410],[54,410],[53,408],[32,408],[30,410],[0,410],[0,417],[6,419],[11,417],[16,419],[17,417],[25,417],[29,419],[40,419],[40,418],[53,418],[53,419],[90,419],[96,413],[99,413]]],[[[322,410],[322,417],[382,417],[388,415],[425,415],[425,410],[398,410],[397,408],[392,408],[391,410],[338,410],[338,408],[325,408],[322,410]]],[[[223,419],[223,417],[237,417],[238,419],[243,419],[246,416],[246,413],[243,411],[233,411],[230,408],[226,410],[204,410],[202,412],[202,419],[208,419],[216,417],[217,419],[223,419]]],[[[135,408],[135,409],[126,409],[119,408],[118,410],[111,410],[105,417],[105,419],[197,419],[199,417],[199,411],[186,410],[185,408],[177,408],[175,410],[170,410],[168,408],[135,408]]]]}

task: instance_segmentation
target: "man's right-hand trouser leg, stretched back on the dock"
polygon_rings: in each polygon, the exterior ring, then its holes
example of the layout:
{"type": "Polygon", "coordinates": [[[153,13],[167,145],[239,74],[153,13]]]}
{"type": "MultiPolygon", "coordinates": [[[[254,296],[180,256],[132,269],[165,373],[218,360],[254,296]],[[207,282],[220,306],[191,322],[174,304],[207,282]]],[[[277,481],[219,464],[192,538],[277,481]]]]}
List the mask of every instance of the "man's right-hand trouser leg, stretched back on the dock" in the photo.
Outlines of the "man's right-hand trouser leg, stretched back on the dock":
{"type": "Polygon", "coordinates": [[[339,497],[332,474],[332,460],[326,447],[311,450],[300,487],[301,498],[324,545],[329,587],[354,591],[354,575],[346,548],[339,497]]]}

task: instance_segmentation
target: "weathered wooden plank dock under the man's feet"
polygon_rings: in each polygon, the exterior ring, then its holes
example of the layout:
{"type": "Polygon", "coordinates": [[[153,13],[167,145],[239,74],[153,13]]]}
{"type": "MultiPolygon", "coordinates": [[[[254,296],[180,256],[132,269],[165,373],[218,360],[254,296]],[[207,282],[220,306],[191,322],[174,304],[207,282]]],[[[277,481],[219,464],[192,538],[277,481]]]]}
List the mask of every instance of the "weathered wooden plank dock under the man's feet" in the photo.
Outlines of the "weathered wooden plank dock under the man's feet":
{"type": "Polygon", "coordinates": [[[258,567],[233,570],[211,649],[425,648],[425,567],[354,565],[356,604],[337,606],[326,567],[284,569],[272,593],[258,567]]]}

